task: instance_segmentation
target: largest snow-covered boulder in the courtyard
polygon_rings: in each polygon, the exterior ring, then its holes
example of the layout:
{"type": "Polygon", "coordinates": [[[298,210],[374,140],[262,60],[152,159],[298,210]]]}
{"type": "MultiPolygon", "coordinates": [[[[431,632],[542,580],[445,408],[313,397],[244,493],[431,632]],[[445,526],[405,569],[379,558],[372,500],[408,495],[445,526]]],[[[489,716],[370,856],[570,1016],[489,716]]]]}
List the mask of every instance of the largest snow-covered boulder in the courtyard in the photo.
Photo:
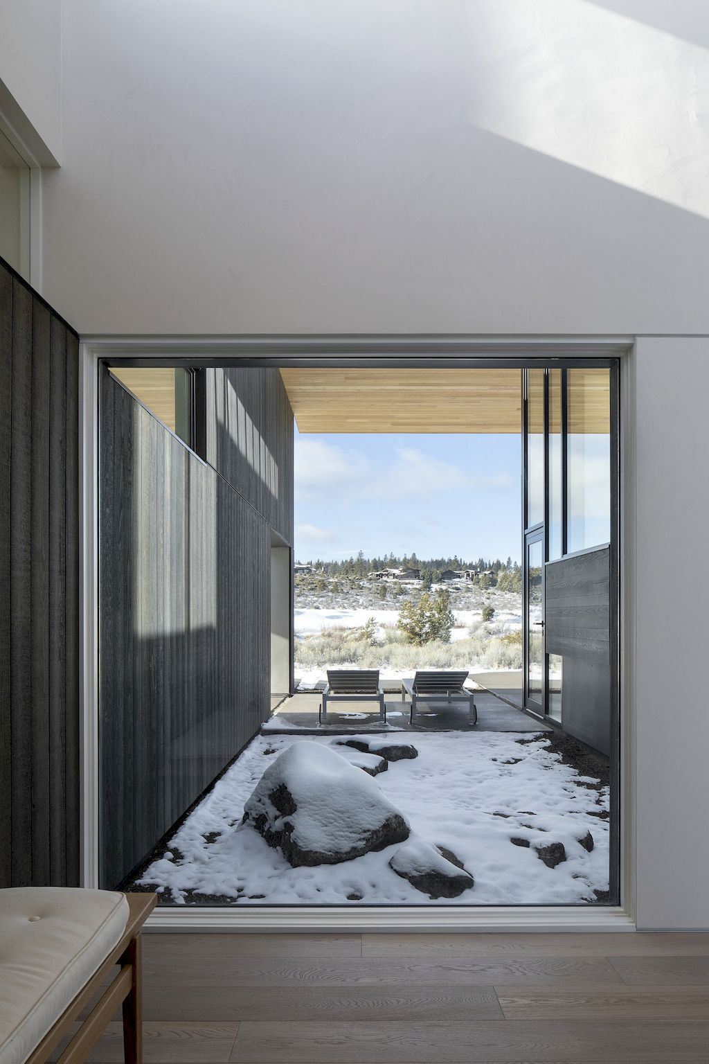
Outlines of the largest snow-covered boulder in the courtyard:
{"type": "Polygon", "coordinates": [[[242,824],[301,865],[338,864],[408,838],[378,784],[320,743],[293,743],[261,776],[242,824]]]}

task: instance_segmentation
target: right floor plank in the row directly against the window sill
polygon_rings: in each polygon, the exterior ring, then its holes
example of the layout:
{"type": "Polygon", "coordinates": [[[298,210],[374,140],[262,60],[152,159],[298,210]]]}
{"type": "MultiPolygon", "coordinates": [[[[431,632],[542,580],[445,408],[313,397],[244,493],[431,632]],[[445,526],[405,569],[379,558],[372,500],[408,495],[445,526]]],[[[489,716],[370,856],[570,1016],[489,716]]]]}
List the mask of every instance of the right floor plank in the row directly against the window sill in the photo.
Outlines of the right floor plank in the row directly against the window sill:
{"type": "Polygon", "coordinates": [[[709,932],[364,934],[362,957],[709,957],[709,932]]]}

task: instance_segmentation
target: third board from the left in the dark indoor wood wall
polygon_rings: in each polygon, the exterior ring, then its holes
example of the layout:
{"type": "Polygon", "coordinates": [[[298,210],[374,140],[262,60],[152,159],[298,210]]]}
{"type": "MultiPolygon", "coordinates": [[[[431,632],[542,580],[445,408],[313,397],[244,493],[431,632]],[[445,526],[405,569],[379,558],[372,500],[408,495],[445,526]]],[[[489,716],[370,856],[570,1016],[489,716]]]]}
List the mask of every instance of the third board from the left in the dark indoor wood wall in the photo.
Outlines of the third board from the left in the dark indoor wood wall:
{"type": "Polygon", "coordinates": [[[49,311],[32,305],[32,882],[50,879],[49,311]]]}

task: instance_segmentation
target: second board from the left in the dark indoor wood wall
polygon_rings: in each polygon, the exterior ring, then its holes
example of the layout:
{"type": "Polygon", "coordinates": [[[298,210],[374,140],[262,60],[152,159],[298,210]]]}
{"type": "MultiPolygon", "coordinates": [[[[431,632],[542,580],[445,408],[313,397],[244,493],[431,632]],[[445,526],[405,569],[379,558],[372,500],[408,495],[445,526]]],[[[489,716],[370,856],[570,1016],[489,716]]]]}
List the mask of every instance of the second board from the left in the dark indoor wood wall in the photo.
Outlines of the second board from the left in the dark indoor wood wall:
{"type": "Polygon", "coordinates": [[[12,882],[32,883],[32,296],[13,282],[11,528],[12,882]]]}

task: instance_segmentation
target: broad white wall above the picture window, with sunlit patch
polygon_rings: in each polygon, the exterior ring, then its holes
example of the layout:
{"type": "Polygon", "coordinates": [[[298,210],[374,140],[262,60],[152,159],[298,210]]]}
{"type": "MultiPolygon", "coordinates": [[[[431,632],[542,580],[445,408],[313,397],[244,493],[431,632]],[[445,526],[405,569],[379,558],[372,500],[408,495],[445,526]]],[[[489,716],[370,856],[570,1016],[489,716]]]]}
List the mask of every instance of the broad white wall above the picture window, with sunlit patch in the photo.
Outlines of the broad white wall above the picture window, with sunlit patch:
{"type": "Polygon", "coordinates": [[[84,333],[709,328],[704,0],[67,0],[63,33],[45,295],[84,333]]]}

